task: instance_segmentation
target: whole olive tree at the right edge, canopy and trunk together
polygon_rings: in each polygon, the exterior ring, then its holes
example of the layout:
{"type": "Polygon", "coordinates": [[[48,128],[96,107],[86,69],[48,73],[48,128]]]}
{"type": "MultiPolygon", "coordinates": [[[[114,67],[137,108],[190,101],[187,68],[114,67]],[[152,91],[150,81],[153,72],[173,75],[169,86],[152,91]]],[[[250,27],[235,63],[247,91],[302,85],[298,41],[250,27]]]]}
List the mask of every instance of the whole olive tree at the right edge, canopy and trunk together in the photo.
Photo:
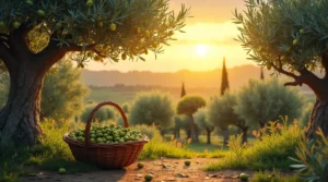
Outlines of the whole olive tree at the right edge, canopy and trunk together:
{"type": "MultiPolygon", "coordinates": [[[[285,86],[307,85],[316,102],[306,130],[309,138],[321,128],[328,135],[327,0],[244,0],[246,10],[235,11],[238,40],[249,58],[277,74],[291,77],[285,86]],[[315,70],[325,76],[318,77],[315,70]]],[[[300,106],[301,107],[301,106],[300,106]]]]}

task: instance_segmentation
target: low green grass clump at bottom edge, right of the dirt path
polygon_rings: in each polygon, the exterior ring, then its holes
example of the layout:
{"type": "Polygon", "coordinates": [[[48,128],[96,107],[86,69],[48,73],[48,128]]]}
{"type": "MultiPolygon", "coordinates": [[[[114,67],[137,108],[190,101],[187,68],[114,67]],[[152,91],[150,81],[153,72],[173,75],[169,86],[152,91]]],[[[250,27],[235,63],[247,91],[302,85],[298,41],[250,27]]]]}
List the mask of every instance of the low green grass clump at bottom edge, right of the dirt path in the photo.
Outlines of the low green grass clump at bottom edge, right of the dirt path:
{"type": "Polygon", "coordinates": [[[272,172],[259,171],[253,174],[250,182],[302,182],[297,174],[282,175],[279,170],[273,169],[272,172]]]}

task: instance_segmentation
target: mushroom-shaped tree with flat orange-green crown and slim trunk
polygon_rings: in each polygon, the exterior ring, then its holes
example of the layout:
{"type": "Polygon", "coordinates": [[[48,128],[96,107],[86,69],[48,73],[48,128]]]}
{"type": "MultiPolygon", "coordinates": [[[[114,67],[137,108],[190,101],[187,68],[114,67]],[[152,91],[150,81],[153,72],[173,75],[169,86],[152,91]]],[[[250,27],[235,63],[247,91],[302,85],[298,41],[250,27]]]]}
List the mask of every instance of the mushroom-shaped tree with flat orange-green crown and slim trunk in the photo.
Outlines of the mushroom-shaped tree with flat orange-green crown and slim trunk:
{"type": "Polygon", "coordinates": [[[187,114],[191,119],[190,129],[192,142],[198,142],[197,126],[195,125],[192,114],[204,106],[206,100],[200,96],[186,96],[181,98],[177,105],[177,114],[187,114]]]}

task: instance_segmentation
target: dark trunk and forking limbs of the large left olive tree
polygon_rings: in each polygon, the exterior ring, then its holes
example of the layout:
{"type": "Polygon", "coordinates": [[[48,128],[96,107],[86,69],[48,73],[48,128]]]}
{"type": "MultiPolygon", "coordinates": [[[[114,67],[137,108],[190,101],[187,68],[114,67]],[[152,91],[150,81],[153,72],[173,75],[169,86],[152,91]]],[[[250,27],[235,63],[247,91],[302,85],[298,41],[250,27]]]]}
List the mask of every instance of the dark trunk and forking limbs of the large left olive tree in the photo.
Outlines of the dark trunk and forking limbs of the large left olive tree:
{"type": "Polygon", "coordinates": [[[26,44],[30,27],[24,24],[10,35],[2,35],[0,60],[10,77],[10,92],[5,106],[0,110],[0,133],[15,145],[34,145],[39,136],[40,96],[46,72],[68,51],[80,47],[59,48],[50,40],[40,52],[32,52],[26,44]]]}

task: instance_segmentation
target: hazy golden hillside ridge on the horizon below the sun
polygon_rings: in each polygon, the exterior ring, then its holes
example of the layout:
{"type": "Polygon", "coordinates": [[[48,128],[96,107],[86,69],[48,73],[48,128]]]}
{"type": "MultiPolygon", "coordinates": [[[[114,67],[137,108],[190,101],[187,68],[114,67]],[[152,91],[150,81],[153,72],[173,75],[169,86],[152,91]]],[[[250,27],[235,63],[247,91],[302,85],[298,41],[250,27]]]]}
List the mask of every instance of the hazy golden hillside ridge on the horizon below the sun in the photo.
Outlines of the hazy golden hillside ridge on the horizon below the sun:
{"type": "MultiPolygon", "coordinates": [[[[237,88],[249,78],[259,78],[260,69],[254,65],[241,65],[227,69],[231,88],[237,88]]],[[[266,76],[269,76],[266,74],[266,76]]],[[[89,86],[150,85],[179,87],[185,82],[188,87],[220,87],[221,69],[204,72],[181,70],[173,73],[153,73],[148,71],[89,71],[82,72],[82,81],[89,86]]]]}

